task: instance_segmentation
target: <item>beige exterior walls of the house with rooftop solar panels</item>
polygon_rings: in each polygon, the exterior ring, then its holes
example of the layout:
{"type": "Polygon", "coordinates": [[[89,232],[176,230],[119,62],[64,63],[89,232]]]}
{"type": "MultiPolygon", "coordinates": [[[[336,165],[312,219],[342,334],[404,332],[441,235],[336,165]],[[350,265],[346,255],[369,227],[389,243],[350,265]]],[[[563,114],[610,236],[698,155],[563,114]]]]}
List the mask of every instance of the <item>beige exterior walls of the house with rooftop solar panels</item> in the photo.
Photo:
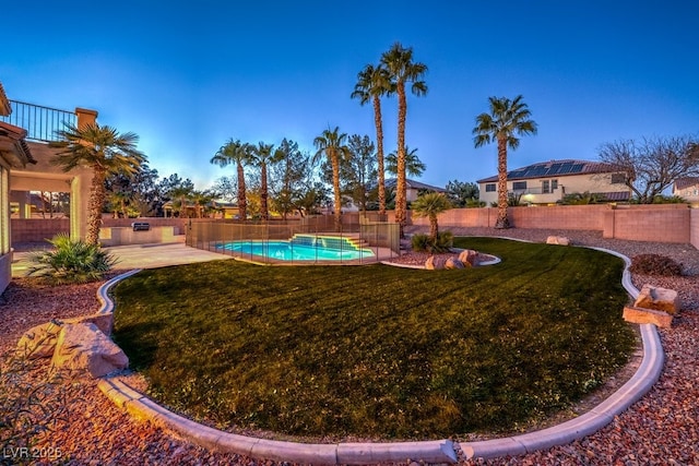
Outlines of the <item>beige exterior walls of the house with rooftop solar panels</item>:
{"type": "MultiPolygon", "coordinates": [[[[569,175],[557,178],[531,178],[526,180],[508,180],[507,189],[509,192],[521,194],[521,202],[528,204],[555,204],[566,194],[589,192],[616,192],[629,191],[624,183],[612,183],[612,174],[593,174],[593,175],[569,175]],[[553,181],[557,187],[552,188],[553,181]],[[544,192],[545,182],[548,183],[548,191],[544,192]],[[522,184],[525,183],[525,188],[522,184]]],[[[478,183],[481,201],[490,205],[497,202],[497,182],[478,183]],[[496,191],[487,191],[486,186],[495,186],[496,191]]]]}

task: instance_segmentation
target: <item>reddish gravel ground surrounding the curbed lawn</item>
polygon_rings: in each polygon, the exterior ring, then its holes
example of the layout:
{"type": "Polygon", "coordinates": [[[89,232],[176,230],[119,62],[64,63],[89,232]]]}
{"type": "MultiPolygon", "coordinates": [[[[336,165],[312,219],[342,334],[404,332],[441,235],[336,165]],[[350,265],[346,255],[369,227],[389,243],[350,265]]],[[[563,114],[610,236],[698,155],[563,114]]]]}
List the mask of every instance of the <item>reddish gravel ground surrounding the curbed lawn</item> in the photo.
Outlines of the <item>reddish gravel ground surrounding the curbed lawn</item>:
{"type": "MultiPolygon", "coordinates": [[[[417,229],[408,229],[415,232],[417,229]]],[[[699,465],[699,251],[690,244],[664,244],[603,239],[591,231],[493,230],[454,228],[454,235],[509,236],[544,241],[548,235],[567,236],[574,244],[596,246],[628,256],[659,253],[680,262],[686,276],[633,276],[640,288],[649,283],[679,291],[684,309],[673,328],[662,330],[666,354],[660,381],[639,402],[593,435],[566,446],[490,461],[461,461],[462,465],[699,465]]],[[[408,256],[410,258],[410,256],[408,256]]],[[[411,259],[405,258],[405,261],[411,259]]],[[[423,258],[419,258],[420,260],[423,258]]],[[[27,278],[13,279],[0,302],[0,354],[7,366],[22,332],[55,318],[69,318],[98,309],[99,284],[50,288],[27,278]]],[[[4,368],[3,368],[4,369],[4,368]]],[[[46,366],[27,370],[23,382],[40,384],[46,366]]],[[[138,381],[134,383],[138,384],[138,381]]],[[[8,386],[0,385],[0,390],[8,386]]],[[[47,397],[66,398],[63,416],[39,435],[38,456],[32,464],[49,465],[266,465],[239,455],[209,452],[118,409],[94,381],[71,380],[56,385],[47,397]],[[60,458],[57,453],[60,452],[60,458]],[[47,457],[49,454],[52,457],[47,457]]],[[[0,440],[3,438],[0,430],[0,440]]],[[[16,457],[3,452],[0,464],[16,457]]]]}

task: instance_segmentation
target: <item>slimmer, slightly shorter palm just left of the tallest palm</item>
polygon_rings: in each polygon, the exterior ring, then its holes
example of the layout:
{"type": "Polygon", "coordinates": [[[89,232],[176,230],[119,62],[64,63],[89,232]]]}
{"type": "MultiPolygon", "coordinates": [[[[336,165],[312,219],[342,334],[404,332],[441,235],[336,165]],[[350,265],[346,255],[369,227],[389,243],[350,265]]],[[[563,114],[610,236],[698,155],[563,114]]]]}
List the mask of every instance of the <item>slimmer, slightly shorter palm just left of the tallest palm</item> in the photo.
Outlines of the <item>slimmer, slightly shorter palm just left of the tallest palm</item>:
{"type": "Polygon", "coordinates": [[[381,117],[381,97],[391,94],[393,86],[388,70],[367,64],[357,74],[357,84],[351,98],[358,98],[360,105],[371,100],[374,105],[374,124],[376,126],[376,151],[379,176],[379,214],[386,214],[386,170],[383,167],[383,122],[381,117]]]}

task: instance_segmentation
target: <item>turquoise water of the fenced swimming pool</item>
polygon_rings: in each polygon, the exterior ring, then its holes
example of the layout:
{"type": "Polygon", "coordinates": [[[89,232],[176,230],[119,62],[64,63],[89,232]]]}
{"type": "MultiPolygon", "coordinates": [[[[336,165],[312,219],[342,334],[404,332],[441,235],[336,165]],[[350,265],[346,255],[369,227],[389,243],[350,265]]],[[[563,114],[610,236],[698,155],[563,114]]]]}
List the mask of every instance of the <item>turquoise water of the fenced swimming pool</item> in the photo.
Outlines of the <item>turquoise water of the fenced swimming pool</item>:
{"type": "Polygon", "coordinates": [[[233,241],[221,244],[217,249],[277,261],[352,261],[375,256],[370,249],[357,249],[348,241],[323,241],[320,238],[313,244],[294,241],[233,241]]]}

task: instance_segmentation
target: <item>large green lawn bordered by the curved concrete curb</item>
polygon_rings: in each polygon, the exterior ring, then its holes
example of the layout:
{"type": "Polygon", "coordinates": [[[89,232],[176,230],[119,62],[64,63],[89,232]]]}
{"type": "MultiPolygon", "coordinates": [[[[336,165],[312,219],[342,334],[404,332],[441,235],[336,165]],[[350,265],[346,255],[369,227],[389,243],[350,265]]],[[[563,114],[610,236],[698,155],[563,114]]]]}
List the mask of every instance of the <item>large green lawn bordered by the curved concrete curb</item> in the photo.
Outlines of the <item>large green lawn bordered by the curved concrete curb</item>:
{"type": "Polygon", "coordinates": [[[454,242],[502,262],[143,271],[114,290],[115,339],[158,402],[300,437],[510,430],[569,406],[627,361],[621,260],[454,242]]]}

